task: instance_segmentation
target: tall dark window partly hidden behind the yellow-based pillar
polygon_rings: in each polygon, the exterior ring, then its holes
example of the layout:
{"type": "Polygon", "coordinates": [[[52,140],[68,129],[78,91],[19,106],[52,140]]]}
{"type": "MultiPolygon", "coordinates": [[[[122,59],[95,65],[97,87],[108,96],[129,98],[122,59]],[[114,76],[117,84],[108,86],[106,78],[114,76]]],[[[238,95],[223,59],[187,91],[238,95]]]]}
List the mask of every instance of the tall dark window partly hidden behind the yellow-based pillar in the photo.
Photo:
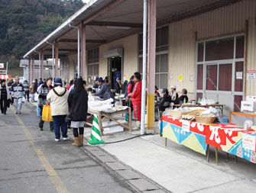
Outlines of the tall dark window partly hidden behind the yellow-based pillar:
{"type": "MultiPolygon", "coordinates": [[[[168,26],[157,29],[156,37],[156,69],[155,79],[158,88],[167,88],[168,85],[168,26]]],[[[138,70],[143,72],[143,34],[138,34],[138,70]]]]}

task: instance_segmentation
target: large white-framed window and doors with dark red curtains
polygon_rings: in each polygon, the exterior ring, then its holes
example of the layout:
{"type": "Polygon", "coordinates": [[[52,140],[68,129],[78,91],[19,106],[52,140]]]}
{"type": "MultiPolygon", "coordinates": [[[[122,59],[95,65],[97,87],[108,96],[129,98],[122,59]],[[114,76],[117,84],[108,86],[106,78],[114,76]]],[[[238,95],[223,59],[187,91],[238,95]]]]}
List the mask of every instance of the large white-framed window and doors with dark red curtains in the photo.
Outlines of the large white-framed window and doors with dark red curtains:
{"type": "Polygon", "coordinates": [[[239,111],[244,92],[245,36],[206,40],[197,43],[196,50],[195,97],[224,101],[226,112],[239,111]]]}

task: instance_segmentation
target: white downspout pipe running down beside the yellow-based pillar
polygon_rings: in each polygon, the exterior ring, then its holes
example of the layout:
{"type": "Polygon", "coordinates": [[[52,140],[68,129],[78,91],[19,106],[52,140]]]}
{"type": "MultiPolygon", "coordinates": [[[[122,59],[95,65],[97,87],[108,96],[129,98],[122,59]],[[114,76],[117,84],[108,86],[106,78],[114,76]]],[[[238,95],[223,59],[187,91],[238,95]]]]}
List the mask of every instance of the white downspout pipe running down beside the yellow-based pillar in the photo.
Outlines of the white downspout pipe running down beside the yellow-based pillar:
{"type": "Polygon", "coordinates": [[[141,92],[141,135],[145,133],[146,79],[147,79],[147,0],[143,6],[143,78],[141,92]]]}

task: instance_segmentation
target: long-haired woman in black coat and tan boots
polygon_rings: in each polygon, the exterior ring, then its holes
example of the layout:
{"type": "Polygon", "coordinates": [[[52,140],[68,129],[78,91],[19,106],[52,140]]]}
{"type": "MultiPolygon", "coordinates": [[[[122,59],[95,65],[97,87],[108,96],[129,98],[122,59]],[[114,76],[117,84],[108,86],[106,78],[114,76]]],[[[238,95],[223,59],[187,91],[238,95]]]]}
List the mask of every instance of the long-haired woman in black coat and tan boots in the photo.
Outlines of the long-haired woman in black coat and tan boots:
{"type": "Polygon", "coordinates": [[[70,92],[68,105],[71,117],[71,127],[75,143],[73,146],[83,146],[84,123],[87,117],[88,95],[83,87],[82,77],[75,79],[74,89],[70,92]]]}

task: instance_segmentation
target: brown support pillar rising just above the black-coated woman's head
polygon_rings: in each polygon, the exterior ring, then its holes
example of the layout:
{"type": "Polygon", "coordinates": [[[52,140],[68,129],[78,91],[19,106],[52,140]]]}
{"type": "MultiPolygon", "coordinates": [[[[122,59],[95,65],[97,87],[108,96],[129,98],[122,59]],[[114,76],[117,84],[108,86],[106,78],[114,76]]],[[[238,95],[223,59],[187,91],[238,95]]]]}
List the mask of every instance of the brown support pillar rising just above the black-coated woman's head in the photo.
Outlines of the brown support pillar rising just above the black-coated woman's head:
{"type": "Polygon", "coordinates": [[[81,60],[82,60],[82,65],[81,65],[81,76],[83,77],[84,80],[86,80],[86,25],[82,24],[81,27],[82,30],[82,48],[81,48],[81,60]]]}

